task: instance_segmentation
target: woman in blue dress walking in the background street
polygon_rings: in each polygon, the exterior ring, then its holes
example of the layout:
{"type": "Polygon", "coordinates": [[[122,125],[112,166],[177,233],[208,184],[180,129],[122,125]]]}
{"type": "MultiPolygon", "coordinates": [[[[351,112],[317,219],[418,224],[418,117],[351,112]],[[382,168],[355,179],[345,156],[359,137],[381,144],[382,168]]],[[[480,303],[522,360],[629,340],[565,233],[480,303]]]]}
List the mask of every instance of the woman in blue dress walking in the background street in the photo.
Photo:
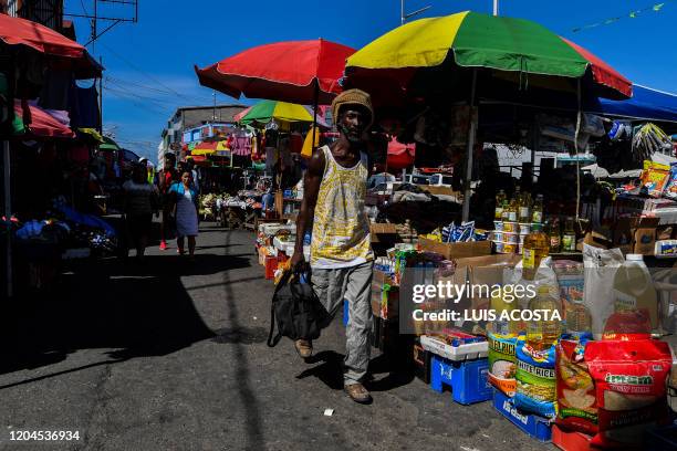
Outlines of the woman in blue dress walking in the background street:
{"type": "Polygon", "coordinates": [[[195,255],[195,238],[198,234],[198,199],[192,187],[192,175],[189,170],[181,172],[179,183],[169,188],[169,193],[175,197],[174,207],[176,218],[176,244],[178,253],[184,255],[184,238],[188,237],[188,255],[190,260],[195,255]]]}

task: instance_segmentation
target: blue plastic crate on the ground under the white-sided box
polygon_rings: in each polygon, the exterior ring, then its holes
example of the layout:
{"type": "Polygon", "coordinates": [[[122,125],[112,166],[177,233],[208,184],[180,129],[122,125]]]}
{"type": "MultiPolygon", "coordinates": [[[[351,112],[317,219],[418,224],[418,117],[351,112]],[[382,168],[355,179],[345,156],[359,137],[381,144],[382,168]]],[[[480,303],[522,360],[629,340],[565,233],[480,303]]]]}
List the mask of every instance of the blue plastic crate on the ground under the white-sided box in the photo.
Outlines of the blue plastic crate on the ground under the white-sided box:
{"type": "Polygon", "coordinates": [[[451,387],[451,398],[461,405],[491,399],[488,373],[486,358],[465,361],[451,361],[436,355],[430,358],[430,387],[440,394],[445,385],[451,387]]]}

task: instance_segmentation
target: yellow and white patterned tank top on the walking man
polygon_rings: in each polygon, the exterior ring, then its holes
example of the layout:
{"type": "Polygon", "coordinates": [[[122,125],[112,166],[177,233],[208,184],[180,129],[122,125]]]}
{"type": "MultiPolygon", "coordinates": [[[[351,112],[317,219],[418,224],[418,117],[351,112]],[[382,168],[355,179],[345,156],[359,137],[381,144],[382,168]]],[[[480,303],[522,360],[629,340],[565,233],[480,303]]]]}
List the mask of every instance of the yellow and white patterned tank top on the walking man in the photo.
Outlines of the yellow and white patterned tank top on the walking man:
{"type": "Polygon", "coordinates": [[[313,221],[311,266],[350,268],[372,261],[369,220],[364,210],[367,157],[362,154],[360,162],[344,168],[327,146],[320,150],[325,165],[313,221]]]}

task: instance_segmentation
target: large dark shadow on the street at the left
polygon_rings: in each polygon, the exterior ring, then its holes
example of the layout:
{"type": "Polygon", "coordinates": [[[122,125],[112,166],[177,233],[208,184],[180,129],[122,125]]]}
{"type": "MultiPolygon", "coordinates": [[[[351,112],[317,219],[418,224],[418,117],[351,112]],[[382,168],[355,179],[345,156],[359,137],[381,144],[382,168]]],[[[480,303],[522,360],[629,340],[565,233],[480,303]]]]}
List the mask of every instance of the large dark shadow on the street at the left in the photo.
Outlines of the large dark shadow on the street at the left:
{"type": "MultiPolygon", "coordinates": [[[[134,259],[87,260],[64,268],[55,289],[6,304],[0,374],[55,364],[77,349],[118,348],[114,359],[163,356],[211,338],[180,276],[249,266],[236,255],[168,251],[134,259]]],[[[113,360],[115,361],[115,360],[113,360]]]]}

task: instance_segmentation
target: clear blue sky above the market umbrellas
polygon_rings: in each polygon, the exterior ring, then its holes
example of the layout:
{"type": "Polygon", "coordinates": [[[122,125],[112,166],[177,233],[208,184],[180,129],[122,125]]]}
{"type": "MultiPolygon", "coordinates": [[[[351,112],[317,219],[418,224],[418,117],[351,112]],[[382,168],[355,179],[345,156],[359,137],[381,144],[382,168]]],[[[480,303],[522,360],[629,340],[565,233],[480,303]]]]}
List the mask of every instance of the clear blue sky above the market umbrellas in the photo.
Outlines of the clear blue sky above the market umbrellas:
{"type": "MultiPolygon", "coordinates": [[[[66,0],[66,12],[92,12],[93,0],[66,0]]],[[[419,17],[473,10],[491,12],[491,0],[407,0],[407,11],[431,8],[419,17]]],[[[124,6],[100,7],[100,14],[125,15],[124,6]]],[[[500,14],[538,21],[585,46],[632,81],[677,92],[677,0],[607,1],[504,0],[500,14]],[[663,2],[659,12],[640,10],[663,2]],[[622,19],[580,32],[574,29],[611,18],[622,19]]],[[[127,15],[128,17],[128,15],[127,15]]],[[[90,27],[75,20],[77,39],[90,27]]],[[[316,39],[360,49],[399,24],[399,0],[139,0],[138,23],[123,23],[100,38],[90,51],[103,57],[104,128],[125,147],[155,159],[163,126],[180,105],[211,105],[192,65],[205,66],[269,42],[316,39]]],[[[100,30],[106,27],[101,21],[100,30]]],[[[218,103],[233,98],[217,94],[218,103]]],[[[239,102],[250,103],[247,99],[239,102]]]]}

